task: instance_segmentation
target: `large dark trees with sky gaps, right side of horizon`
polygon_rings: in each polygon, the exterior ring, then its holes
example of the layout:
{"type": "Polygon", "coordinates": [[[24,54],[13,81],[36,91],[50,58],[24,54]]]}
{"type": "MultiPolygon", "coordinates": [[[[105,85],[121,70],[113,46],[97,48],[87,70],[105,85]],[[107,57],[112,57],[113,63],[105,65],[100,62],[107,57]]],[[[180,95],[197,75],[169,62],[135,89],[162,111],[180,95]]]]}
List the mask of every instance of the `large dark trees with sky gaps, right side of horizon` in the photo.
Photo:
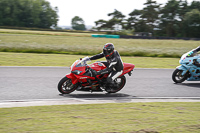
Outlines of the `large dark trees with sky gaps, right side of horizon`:
{"type": "Polygon", "coordinates": [[[200,38],[200,1],[168,0],[165,5],[147,0],[141,10],[135,9],[126,18],[115,9],[110,20],[95,21],[98,30],[121,27],[134,32],[149,32],[153,36],[200,38]]]}

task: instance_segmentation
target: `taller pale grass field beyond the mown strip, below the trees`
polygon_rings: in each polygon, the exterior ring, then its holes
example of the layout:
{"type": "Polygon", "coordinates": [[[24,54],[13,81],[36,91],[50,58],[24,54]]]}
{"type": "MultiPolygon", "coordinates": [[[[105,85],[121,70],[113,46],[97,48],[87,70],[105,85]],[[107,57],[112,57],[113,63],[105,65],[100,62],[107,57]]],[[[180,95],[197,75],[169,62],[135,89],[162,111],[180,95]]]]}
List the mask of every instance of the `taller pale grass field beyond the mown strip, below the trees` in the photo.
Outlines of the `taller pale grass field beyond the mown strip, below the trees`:
{"type": "Polygon", "coordinates": [[[1,52],[93,55],[112,42],[123,56],[180,57],[200,41],[92,38],[89,33],[0,29],[1,52]],[[23,34],[22,34],[23,33],[23,34]]]}

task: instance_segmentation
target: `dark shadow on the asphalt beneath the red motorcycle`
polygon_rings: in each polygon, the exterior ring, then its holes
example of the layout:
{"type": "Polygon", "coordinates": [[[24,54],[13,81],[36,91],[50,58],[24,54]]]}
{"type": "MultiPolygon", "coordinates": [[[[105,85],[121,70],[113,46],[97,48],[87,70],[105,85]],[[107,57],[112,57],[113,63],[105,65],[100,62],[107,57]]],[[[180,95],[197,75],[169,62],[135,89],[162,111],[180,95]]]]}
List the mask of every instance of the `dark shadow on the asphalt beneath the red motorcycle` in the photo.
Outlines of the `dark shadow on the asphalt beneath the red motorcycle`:
{"type": "Polygon", "coordinates": [[[86,94],[60,94],[60,96],[66,98],[78,98],[78,99],[85,99],[85,100],[131,100],[133,97],[132,95],[124,94],[124,93],[86,93],[86,94]]]}

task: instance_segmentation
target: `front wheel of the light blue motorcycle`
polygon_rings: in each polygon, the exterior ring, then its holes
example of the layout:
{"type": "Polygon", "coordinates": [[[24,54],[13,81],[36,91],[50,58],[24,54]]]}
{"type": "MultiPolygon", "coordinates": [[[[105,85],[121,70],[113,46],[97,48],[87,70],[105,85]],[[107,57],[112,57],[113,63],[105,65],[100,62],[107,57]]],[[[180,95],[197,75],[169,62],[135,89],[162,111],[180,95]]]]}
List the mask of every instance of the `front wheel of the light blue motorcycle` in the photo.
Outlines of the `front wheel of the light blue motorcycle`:
{"type": "Polygon", "coordinates": [[[176,69],[172,74],[172,80],[175,83],[182,83],[188,78],[188,73],[182,75],[183,70],[176,69]]]}

